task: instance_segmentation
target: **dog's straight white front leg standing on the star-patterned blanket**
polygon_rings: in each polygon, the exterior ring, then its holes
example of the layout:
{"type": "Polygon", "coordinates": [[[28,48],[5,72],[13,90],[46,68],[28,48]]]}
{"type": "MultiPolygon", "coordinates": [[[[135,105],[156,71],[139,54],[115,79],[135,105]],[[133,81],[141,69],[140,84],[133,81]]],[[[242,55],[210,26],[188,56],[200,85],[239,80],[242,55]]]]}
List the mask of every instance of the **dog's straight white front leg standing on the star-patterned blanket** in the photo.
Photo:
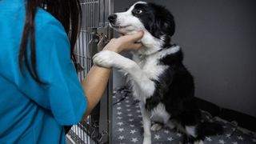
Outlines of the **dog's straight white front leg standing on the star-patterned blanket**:
{"type": "Polygon", "coordinates": [[[145,109],[145,105],[142,104],[142,102],[140,102],[140,108],[142,111],[142,122],[143,122],[143,129],[144,129],[143,144],[151,144],[150,113],[145,109]]]}

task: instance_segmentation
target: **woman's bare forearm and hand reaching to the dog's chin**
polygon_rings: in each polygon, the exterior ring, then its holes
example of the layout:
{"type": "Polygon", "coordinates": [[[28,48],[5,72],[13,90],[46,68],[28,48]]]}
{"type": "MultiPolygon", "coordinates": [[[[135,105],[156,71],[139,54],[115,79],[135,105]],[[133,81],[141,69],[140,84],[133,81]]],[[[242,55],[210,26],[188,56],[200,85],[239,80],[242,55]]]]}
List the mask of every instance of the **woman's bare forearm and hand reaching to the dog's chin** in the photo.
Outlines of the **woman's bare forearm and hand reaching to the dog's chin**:
{"type": "MultiPolygon", "coordinates": [[[[137,41],[141,39],[142,36],[143,33],[139,32],[138,34],[113,38],[103,50],[112,50],[117,53],[125,50],[138,50],[142,47],[142,43],[138,43],[137,41]]],[[[87,101],[87,109],[83,119],[90,114],[91,110],[94,109],[102,98],[110,73],[111,69],[93,66],[86,75],[86,78],[82,82],[82,88],[85,91],[87,101]]]]}

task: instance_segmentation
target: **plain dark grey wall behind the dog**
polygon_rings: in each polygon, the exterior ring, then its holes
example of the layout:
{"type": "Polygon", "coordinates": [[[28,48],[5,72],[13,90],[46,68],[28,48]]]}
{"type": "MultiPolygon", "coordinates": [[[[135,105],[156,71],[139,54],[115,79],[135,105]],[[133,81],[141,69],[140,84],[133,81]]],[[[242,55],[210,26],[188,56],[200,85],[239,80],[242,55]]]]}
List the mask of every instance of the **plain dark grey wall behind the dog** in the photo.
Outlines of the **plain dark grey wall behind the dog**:
{"type": "MultiPolygon", "coordinates": [[[[151,0],[174,14],[196,96],[256,117],[256,1],[151,0]]],[[[114,1],[122,11],[135,1],[114,1]]],[[[124,84],[114,72],[114,87],[124,84]]]]}

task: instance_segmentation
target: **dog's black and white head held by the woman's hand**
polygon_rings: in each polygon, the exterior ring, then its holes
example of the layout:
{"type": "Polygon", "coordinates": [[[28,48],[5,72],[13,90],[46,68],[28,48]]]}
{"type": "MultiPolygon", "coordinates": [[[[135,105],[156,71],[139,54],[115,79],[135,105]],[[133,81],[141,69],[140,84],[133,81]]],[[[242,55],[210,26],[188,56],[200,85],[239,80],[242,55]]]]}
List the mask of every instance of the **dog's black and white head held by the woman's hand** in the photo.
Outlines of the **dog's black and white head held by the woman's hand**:
{"type": "Polygon", "coordinates": [[[121,34],[144,30],[142,43],[148,49],[144,51],[146,53],[170,46],[170,37],[175,31],[174,17],[170,11],[154,3],[136,2],[125,12],[111,14],[108,19],[110,26],[121,34]]]}

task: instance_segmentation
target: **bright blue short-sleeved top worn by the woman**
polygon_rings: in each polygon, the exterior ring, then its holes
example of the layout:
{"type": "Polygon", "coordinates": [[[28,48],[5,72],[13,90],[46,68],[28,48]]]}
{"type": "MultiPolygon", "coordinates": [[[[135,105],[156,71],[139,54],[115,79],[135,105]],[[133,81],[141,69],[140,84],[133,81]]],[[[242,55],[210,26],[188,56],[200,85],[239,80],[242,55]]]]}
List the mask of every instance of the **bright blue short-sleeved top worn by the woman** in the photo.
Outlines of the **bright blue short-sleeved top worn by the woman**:
{"type": "Polygon", "coordinates": [[[82,120],[86,99],[66,32],[38,8],[35,18],[38,76],[34,81],[18,52],[25,21],[24,0],[0,0],[0,143],[66,143],[63,126],[82,120]]]}

